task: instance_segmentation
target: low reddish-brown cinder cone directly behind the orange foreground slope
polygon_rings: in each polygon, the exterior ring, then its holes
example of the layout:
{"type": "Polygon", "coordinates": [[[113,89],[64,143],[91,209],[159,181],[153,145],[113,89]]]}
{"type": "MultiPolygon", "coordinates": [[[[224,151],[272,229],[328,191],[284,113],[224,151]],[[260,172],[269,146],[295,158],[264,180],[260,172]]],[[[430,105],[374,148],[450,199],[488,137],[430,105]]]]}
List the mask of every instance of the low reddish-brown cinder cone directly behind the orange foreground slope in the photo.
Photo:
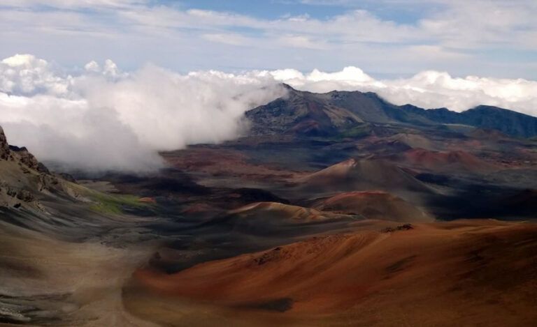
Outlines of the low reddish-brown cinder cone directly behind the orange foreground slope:
{"type": "Polygon", "coordinates": [[[362,215],[368,219],[431,222],[434,218],[407,201],[383,191],[345,192],[323,199],[315,208],[362,215]]]}

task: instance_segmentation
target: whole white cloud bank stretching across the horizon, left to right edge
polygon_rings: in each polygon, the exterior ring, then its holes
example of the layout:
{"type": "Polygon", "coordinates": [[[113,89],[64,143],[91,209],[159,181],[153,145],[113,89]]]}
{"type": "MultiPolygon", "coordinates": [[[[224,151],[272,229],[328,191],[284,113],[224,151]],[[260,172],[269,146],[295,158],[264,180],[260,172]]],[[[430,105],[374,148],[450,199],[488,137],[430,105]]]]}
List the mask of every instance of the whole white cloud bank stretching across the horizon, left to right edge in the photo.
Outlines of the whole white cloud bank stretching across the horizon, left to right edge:
{"type": "Polygon", "coordinates": [[[158,151],[218,143],[245,132],[243,114],[296,89],[374,91],[398,105],[463,111],[496,105],[537,115],[537,82],[424,71],[379,80],[356,67],[313,70],[208,70],[185,75],[154,65],[124,73],[90,61],[76,75],[28,54],[0,62],[0,124],[9,142],[41,160],[89,171],[162,167],[158,151]]]}

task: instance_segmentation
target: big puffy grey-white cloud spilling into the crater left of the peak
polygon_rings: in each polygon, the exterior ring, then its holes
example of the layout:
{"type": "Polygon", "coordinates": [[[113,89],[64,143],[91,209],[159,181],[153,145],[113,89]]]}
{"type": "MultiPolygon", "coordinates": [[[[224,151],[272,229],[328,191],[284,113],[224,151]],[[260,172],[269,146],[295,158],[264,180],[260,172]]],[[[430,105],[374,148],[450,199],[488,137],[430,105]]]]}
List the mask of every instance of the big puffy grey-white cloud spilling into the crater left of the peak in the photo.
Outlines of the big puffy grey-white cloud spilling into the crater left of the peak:
{"type": "Polygon", "coordinates": [[[87,73],[62,77],[46,61],[27,58],[21,67],[31,72],[28,78],[19,77],[24,70],[10,75],[2,83],[10,82],[8,92],[0,91],[0,124],[9,141],[41,160],[88,170],[155,169],[162,164],[157,151],[233,139],[245,128],[246,110],[284,92],[273,79],[252,73],[180,75],[146,66],[126,74],[106,61],[103,68],[90,62],[87,73]],[[37,89],[43,80],[47,87],[37,89]],[[59,86],[66,91],[57,92],[59,86]]]}

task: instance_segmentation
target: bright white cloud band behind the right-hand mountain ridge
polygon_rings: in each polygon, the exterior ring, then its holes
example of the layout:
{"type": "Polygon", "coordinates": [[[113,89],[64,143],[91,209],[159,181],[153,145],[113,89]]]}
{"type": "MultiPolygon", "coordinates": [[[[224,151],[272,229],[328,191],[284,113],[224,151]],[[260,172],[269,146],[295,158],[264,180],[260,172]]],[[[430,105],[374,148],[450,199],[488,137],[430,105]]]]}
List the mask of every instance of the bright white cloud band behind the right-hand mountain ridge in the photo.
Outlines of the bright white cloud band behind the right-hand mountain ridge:
{"type": "Polygon", "coordinates": [[[461,78],[427,70],[406,79],[377,80],[355,67],[336,73],[313,70],[307,75],[292,70],[267,73],[306,91],[373,91],[396,105],[447,107],[457,112],[476,105],[494,105],[537,116],[537,82],[527,79],[461,78]]]}

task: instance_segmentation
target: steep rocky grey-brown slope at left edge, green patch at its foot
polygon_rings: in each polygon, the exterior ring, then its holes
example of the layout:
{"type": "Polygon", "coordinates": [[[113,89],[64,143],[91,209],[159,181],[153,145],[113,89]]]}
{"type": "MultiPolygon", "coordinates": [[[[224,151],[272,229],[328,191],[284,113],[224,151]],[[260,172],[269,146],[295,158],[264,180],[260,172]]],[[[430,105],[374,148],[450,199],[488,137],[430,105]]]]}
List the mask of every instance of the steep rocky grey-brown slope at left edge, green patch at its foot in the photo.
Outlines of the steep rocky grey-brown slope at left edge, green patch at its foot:
{"type": "MultiPolygon", "coordinates": [[[[68,178],[68,179],[66,179],[68,178]]],[[[10,146],[0,128],[0,225],[17,225],[62,240],[80,241],[121,225],[123,208],[151,204],[129,195],[86,188],[50,172],[25,148],[10,146]]]]}

